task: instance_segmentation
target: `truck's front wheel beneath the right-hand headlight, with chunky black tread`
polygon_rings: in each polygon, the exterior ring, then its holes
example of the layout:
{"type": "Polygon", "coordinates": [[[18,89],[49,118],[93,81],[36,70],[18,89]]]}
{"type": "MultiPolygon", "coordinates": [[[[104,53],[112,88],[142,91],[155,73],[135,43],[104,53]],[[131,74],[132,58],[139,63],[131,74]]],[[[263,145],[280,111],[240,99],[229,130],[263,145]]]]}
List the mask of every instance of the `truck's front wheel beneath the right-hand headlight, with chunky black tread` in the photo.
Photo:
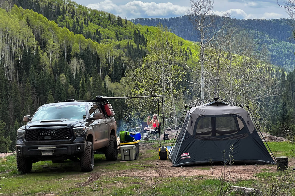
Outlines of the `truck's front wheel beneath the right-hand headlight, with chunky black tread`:
{"type": "Polygon", "coordinates": [[[94,153],[92,142],[86,142],[85,152],[80,158],[80,167],[83,172],[91,172],[94,168],[94,153]]]}

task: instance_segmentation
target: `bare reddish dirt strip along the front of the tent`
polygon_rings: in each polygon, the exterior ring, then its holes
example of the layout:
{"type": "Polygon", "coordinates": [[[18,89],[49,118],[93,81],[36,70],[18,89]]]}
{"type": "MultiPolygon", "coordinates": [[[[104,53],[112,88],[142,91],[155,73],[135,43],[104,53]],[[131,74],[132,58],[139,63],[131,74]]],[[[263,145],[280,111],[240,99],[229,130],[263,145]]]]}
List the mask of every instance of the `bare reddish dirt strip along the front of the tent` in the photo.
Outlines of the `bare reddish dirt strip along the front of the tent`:
{"type": "MultiPolygon", "coordinates": [[[[151,146],[151,143],[140,143],[140,158],[145,158],[145,151],[154,149],[155,153],[158,150],[151,146]]],[[[130,162],[131,163],[131,162],[130,162]]],[[[224,167],[223,165],[202,165],[202,166],[186,166],[186,167],[172,167],[172,162],[170,160],[150,160],[149,165],[145,171],[140,170],[135,172],[132,169],[130,172],[125,171],[124,173],[116,174],[117,176],[130,176],[130,177],[191,177],[191,176],[201,176],[204,178],[230,178],[230,179],[240,179],[247,180],[255,178],[253,175],[255,173],[263,172],[263,169],[267,169],[268,172],[276,172],[277,165],[231,165],[224,167]]],[[[288,160],[289,167],[294,168],[295,159],[288,160]]],[[[136,167],[135,167],[136,169],[136,167]]],[[[107,172],[105,175],[112,176],[112,172],[107,172]]]]}

